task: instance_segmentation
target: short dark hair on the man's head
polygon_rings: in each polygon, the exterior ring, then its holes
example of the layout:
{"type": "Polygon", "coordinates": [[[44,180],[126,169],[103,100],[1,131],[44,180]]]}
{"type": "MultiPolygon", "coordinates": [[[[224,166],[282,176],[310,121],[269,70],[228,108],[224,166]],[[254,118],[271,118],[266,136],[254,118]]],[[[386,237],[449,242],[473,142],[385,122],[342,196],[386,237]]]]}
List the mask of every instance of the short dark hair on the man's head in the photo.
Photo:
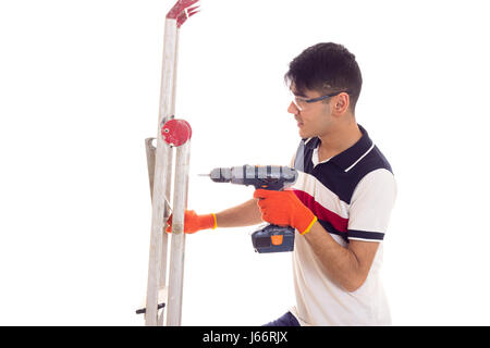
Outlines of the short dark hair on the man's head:
{"type": "Polygon", "coordinates": [[[317,44],[304,50],[290,63],[284,80],[290,86],[294,84],[298,94],[306,89],[324,95],[348,90],[353,113],[363,86],[355,55],[333,42],[317,44]]]}

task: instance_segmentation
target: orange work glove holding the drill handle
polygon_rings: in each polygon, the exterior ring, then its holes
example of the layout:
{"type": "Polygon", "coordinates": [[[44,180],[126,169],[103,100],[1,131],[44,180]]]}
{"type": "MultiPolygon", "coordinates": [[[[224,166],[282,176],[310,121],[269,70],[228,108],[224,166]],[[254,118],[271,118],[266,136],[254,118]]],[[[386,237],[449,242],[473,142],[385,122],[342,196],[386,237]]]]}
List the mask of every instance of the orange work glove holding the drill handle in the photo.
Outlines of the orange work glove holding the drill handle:
{"type": "Polygon", "coordinates": [[[272,191],[256,189],[254,198],[262,213],[262,220],[280,226],[292,226],[302,235],[309,232],[317,216],[297,198],[292,190],[272,191]]]}

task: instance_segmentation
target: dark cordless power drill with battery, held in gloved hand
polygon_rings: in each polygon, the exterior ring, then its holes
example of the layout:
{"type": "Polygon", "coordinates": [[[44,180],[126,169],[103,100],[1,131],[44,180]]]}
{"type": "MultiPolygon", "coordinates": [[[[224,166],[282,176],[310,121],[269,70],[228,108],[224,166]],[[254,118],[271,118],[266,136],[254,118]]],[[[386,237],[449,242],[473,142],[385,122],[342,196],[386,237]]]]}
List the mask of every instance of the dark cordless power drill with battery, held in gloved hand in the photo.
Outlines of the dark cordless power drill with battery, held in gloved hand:
{"type": "MultiPolygon", "coordinates": [[[[253,185],[256,189],[282,190],[293,185],[297,178],[296,170],[279,165],[242,165],[217,167],[209,174],[215,183],[253,185]]],[[[294,228],[273,224],[260,226],[252,234],[252,244],[257,252],[281,252],[294,249],[294,228]]]]}

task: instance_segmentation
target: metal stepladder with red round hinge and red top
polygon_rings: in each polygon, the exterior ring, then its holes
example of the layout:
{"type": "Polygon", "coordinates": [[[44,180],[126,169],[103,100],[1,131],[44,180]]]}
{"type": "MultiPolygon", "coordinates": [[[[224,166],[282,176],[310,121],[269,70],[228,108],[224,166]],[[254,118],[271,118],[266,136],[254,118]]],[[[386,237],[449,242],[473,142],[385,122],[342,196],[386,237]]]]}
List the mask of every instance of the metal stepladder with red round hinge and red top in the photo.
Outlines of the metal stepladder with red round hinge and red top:
{"type": "Polygon", "coordinates": [[[146,308],[139,312],[145,312],[145,324],[152,326],[163,325],[166,309],[167,325],[181,325],[185,249],[184,213],[187,204],[192,130],[187,122],[174,119],[175,86],[179,32],[184,22],[198,12],[196,2],[198,0],[179,0],[167,14],[156,149],[151,145],[155,139],[146,139],[152,213],[146,308]],[[176,160],[169,286],[168,296],[161,296],[167,293],[168,235],[164,231],[170,215],[168,197],[171,191],[173,147],[176,148],[176,160]]]}

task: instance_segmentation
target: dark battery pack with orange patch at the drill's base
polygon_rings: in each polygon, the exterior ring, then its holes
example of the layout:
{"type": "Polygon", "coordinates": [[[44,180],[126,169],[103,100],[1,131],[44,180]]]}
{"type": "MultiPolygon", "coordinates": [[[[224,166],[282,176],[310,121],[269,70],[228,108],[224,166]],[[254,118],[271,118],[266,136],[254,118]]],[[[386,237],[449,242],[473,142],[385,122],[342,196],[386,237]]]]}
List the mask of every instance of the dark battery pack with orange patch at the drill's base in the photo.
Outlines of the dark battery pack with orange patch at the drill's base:
{"type": "Polygon", "coordinates": [[[252,244],[259,253],[293,251],[294,228],[267,225],[252,234],[252,244]]]}

